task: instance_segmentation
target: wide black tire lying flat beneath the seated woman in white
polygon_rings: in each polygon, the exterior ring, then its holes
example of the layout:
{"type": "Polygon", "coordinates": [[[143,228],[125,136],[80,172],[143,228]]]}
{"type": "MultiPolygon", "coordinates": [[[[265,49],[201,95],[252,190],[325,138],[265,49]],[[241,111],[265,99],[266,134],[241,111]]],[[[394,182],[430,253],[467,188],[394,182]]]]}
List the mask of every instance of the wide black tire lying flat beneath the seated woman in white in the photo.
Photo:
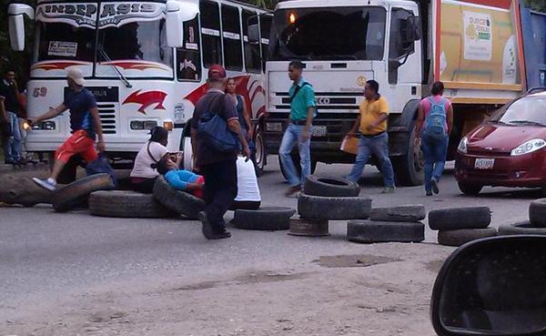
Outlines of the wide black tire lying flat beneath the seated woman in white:
{"type": "Polygon", "coordinates": [[[129,219],[162,219],[173,215],[153,195],[131,190],[92,193],[89,197],[89,212],[94,216],[129,219]]]}

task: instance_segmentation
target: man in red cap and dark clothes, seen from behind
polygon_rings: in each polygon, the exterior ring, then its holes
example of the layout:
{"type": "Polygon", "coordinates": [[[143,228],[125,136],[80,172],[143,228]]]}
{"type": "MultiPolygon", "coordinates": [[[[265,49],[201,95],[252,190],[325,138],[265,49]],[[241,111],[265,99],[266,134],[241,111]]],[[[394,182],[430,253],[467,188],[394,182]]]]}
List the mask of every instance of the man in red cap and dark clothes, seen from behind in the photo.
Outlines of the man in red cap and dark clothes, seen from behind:
{"type": "Polygon", "coordinates": [[[205,178],[204,211],[199,212],[199,220],[203,224],[203,235],[207,239],[223,239],[231,237],[226,230],[224,215],[237,197],[237,151],[226,153],[212,148],[202,138],[197,136],[198,121],[204,113],[212,112],[227,121],[227,127],[237,134],[243,145],[243,154],[250,156],[248,144],[241,126],[235,104],[230,97],[224,95],[226,88],[226,70],[223,66],[213,65],[208,68],[208,91],[199,98],[191,119],[191,145],[195,156],[195,168],[205,178]]]}

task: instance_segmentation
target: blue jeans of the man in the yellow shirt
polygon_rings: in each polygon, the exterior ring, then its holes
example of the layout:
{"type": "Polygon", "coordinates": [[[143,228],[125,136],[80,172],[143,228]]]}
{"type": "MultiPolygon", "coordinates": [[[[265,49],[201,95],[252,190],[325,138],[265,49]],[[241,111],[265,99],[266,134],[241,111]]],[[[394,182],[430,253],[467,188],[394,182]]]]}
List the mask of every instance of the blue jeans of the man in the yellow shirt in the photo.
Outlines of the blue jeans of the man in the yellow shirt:
{"type": "Polygon", "coordinates": [[[373,154],[378,158],[383,174],[383,183],[385,187],[394,187],[394,171],[389,159],[389,135],[387,132],[381,133],[376,137],[360,137],[359,153],[355,160],[349,179],[358,182],[362,175],[364,166],[368,163],[369,156],[373,154]]]}

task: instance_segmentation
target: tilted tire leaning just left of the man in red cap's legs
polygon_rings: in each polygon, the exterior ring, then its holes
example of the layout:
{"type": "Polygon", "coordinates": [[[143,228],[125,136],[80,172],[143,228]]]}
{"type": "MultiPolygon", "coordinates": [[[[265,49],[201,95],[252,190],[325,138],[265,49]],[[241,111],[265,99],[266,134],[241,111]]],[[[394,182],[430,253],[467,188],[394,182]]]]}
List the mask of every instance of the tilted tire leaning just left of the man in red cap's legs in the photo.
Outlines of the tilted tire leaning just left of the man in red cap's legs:
{"type": "Polygon", "coordinates": [[[158,177],[154,185],[154,198],[165,208],[187,219],[197,219],[197,213],[205,209],[205,201],[192,194],[172,188],[165,178],[158,177]]]}

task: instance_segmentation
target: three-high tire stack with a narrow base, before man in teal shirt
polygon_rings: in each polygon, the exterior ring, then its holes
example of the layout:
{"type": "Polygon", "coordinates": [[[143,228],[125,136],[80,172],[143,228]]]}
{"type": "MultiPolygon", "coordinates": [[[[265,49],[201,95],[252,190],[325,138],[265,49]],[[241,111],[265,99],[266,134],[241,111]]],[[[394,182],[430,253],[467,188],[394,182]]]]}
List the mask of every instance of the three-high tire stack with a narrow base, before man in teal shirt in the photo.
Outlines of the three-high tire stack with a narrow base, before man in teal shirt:
{"type": "Polygon", "coordinates": [[[359,185],[346,178],[309,176],[298,195],[299,219],[292,220],[290,234],[325,236],[329,220],[368,219],[371,199],[359,192],[359,185]]]}

